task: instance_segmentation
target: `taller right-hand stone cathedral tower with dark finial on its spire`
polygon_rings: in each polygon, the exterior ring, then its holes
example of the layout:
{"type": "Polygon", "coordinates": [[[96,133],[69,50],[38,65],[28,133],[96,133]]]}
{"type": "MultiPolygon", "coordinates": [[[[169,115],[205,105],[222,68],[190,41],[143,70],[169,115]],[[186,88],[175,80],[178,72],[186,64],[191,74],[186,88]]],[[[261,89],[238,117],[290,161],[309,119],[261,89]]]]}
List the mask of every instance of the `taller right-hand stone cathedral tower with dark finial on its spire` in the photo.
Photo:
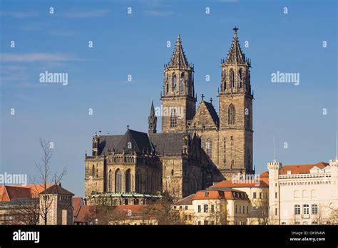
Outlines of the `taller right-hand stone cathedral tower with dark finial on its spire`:
{"type": "Polygon", "coordinates": [[[231,180],[252,170],[252,99],[250,60],[245,59],[237,28],[227,58],[222,60],[220,83],[220,162],[222,175],[231,180]],[[229,178],[230,177],[230,178],[229,178]]]}

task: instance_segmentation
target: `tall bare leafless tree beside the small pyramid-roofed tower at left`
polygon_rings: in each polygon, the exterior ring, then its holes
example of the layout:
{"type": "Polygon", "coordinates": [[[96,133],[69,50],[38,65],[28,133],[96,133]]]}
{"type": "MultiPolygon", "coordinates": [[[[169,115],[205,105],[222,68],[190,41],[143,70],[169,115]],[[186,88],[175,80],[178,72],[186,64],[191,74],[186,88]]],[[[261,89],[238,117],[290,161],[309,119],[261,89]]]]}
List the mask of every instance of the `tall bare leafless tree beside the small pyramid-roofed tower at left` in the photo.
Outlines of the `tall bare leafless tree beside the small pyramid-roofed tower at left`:
{"type": "MultiPolygon", "coordinates": [[[[60,174],[55,173],[53,178],[51,178],[51,157],[53,155],[53,151],[51,148],[51,143],[49,141],[44,140],[43,138],[39,139],[40,147],[42,150],[42,157],[40,162],[35,162],[36,171],[38,172],[37,182],[34,180],[34,186],[36,187],[36,192],[38,191],[38,185],[43,185],[43,197],[40,201],[40,216],[43,219],[44,224],[48,222],[48,212],[50,210],[51,205],[53,204],[53,197],[48,196],[47,185],[48,182],[58,183],[61,181],[62,177],[66,174],[66,167],[63,167],[63,170],[60,174]],[[42,204],[41,204],[42,203],[42,204]]],[[[39,196],[38,196],[39,197],[39,196]]]]}

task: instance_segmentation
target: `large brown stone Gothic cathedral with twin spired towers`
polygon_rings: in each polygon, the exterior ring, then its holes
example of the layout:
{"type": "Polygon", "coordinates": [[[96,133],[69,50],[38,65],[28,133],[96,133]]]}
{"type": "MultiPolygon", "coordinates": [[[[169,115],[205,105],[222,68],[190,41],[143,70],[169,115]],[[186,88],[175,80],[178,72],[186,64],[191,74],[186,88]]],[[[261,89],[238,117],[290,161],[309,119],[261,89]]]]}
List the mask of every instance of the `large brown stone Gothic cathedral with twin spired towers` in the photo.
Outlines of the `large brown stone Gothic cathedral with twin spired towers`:
{"type": "Polygon", "coordinates": [[[202,97],[196,110],[194,67],[180,36],[164,67],[162,133],[153,103],[148,133],[127,128],[123,135],[95,135],[86,154],[85,194],[110,195],[115,205],[142,204],[168,191],[183,198],[233,175],[252,174],[250,60],[242,53],[237,28],[221,63],[219,114],[202,97]],[[141,200],[141,202],[140,202],[141,200]],[[144,203],[144,201],[143,201],[144,203]]]}

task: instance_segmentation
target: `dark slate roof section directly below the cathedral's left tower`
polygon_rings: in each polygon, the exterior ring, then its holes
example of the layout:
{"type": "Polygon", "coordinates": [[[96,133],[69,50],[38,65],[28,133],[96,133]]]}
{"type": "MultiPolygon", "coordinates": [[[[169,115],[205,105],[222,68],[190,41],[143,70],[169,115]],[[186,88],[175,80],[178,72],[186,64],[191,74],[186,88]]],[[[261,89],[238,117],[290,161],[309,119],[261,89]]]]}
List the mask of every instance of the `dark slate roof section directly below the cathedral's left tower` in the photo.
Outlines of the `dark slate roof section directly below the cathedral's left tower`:
{"type": "Polygon", "coordinates": [[[156,153],[182,154],[184,133],[151,133],[149,137],[156,153]]]}

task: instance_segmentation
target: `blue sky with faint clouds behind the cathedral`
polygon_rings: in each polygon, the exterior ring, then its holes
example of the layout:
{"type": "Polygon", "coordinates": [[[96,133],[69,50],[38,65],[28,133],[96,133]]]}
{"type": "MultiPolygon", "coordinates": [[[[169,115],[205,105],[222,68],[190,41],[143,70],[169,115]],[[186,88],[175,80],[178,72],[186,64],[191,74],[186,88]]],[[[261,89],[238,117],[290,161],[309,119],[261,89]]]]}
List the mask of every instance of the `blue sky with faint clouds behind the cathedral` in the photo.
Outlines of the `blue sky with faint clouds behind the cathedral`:
{"type": "Polygon", "coordinates": [[[68,168],[63,186],[83,195],[84,154],[91,153],[93,134],[124,133],[126,125],[147,131],[150,102],[153,98],[160,105],[163,64],[170,60],[178,33],[188,61],[195,64],[198,102],[203,93],[218,110],[220,59],[227,56],[234,26],[252,60],[257,172],[273,159],[273,137],[284,165],[332,159],[336,1],[2,0],[0,172],[34,176],[34,161],[41,157],[39,137],[45,138],[54,143],[53,170],[68,168]],[[68,85],[39,83],[45,71],[68,73],[68,85]],[[299,86],[271,83],[271,73],[277,71],[299,73],[299,86]],[[283,148],[285,142],[288,148],[283,148]]]}

